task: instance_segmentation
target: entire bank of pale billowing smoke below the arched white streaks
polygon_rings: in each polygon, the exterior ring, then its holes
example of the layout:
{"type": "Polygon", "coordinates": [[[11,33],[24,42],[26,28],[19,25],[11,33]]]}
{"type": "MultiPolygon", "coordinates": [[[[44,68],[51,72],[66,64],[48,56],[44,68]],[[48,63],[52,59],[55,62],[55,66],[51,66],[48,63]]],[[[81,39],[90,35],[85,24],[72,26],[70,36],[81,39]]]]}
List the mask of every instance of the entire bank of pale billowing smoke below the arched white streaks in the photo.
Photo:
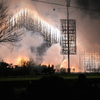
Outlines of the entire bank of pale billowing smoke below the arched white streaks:
{"type": "MultiPolygon", "coordinates": [[[[33,33],[25,29],[20,29],[24,32],[24,37],[16,44],[13,50],[6,46],[1,46],[0,57],[7,63],[17,64],[18,58],[32,59],[36,64],[52,64],[59,65],[63,61],[61,55],[60,44],[53,44],[50,48],[46,48],[43,55],[39,55],[37,48],[45,43],[43,36],[39,32],[33,33]],[[39,59],[41,58],[41,59],[39,59]]],[[[42,49],[41,49],[42,50],[42,49]]]]}

